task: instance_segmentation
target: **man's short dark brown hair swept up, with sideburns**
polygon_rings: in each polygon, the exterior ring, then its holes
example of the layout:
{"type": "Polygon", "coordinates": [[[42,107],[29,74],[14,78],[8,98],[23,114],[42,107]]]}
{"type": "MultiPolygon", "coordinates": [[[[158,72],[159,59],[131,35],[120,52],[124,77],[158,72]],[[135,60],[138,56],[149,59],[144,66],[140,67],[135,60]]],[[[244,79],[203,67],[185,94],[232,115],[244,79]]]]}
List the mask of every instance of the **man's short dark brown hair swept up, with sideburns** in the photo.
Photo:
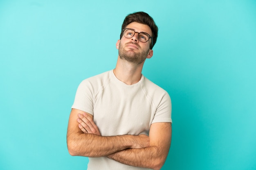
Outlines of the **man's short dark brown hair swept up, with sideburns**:
{"type": "MultiPolygon", "coordinates": [[[[155,46],[155,43],[157,41],[157,35],[158,35],[158,27],[155,24],[155,21],[153,20],[152,17],[150,17],[147,13],[145,12],[136,12],[136,13],[131,13],[129,15],[126,16],[126,18],[124,19],[124,22],[122,24],[122,28],[121,28],[121,34],[120,34],[120,39],[123,36],[123,29],[126,28],[126,26],[132,22],[138,22],[140,24],[146,24],[150,27],[153,35],[152,35],[152,39],[153,39],[153,45],[150,44],[150,49],[153,48],[153,46],[155,46]]],[[[151,40],[152,40],[151,39],[151,40]]]]}

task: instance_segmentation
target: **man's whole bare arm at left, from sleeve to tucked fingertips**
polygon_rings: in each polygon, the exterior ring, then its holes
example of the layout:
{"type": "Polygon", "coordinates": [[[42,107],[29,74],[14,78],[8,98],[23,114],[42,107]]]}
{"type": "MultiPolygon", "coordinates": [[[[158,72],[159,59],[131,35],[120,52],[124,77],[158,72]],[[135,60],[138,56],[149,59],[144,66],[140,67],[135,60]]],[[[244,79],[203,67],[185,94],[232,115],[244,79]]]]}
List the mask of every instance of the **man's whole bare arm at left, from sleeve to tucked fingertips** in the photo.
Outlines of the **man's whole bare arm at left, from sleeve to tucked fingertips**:
{"type": "MultiPolygon", "coordinates": [[[[81,117],[83,113],[85,112],[78,109],[72,109],[70,113],[67,127],[67,148],[70,155],[102,157],[127,148],[144,148],[149,146],[149,138],[146,135],[101,136],[98,132],[95,134],[83,133],[77,122],[79,115],[81,117]]],[[[88,119],[92,121],[92,116],[90,116],[88,119]]]]}

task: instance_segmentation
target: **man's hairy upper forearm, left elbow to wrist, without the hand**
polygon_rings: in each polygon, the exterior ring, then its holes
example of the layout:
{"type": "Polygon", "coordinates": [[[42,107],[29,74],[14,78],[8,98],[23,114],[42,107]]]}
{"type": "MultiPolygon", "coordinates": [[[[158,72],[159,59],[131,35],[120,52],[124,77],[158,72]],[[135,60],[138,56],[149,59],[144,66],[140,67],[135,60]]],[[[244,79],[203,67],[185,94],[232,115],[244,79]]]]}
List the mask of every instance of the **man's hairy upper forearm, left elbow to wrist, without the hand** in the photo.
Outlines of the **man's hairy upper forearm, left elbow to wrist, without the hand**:
{"type": "Polygon", "coordinates": [[[132,147],[134,137],[99,136],[77,133],[67,136],[67,147],[72,156],[102,157],[132,147]]]}

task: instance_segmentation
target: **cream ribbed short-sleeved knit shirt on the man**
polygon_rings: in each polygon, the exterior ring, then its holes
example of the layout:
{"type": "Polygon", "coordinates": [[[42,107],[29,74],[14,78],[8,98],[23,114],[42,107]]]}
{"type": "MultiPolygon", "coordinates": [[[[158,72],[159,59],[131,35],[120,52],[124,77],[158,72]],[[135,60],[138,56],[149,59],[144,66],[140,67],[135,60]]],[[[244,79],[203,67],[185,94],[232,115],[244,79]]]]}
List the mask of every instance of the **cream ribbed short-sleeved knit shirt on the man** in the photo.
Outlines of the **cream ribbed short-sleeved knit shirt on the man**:
{"type": "MultiPolygon", "coordinates": [[[[127,85],[113,70],[83,80],[72,108],[93,115],[102,136],[149,134],[155,122],[172,122],[168,93],[141,74],[127,85]]],[[[88,170],[145,170],[107,157],[89,158],[88,170]]]]}

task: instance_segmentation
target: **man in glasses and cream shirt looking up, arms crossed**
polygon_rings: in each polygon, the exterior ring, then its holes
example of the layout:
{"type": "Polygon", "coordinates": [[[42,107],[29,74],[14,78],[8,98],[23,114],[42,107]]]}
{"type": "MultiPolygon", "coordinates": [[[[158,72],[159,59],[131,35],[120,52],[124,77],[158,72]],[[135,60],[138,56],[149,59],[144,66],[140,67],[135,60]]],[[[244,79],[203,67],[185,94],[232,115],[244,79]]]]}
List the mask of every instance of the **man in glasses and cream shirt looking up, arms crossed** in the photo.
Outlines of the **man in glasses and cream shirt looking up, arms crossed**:
{"type": "Polygon", "coordinates": [[[171,145],[171,99],[142,74],[158,28],[144,12],[126,16],[114,70],[79,85],[67,129],[70,155],[88,170],[160,169],[171,145]]]}

